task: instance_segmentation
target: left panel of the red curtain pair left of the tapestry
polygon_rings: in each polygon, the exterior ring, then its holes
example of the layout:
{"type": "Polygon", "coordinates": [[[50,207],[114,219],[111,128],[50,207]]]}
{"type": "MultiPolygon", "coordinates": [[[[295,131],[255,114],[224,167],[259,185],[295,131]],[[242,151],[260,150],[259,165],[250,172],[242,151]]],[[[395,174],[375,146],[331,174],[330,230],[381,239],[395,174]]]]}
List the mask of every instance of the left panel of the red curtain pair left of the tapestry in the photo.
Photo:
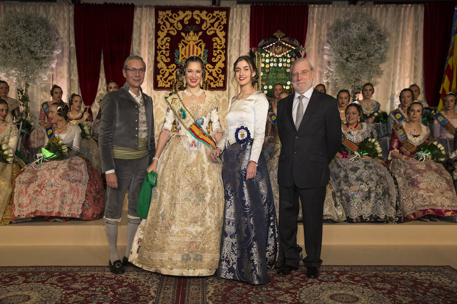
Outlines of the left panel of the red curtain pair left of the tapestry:
{"type": "Polygon", "coordinates": [[[92,105],[99,86],[102,58],[101,14],[100,5],[75,4],[75,48],[79,88],[87,106],[92,105]]]}

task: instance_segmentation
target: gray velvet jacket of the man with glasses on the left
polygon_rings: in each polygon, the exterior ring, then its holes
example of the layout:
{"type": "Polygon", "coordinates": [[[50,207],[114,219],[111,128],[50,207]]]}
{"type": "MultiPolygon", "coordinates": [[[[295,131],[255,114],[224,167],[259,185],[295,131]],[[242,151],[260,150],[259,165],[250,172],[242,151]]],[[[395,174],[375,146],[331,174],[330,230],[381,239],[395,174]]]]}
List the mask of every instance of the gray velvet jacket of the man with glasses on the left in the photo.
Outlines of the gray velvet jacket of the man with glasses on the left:
{"type": "MultiPolygon", "coordinates": [[[[141,90],[141,89],[140,89],[141,90]]],[[[155,154],[154,113],[152,98],[141,90],[148,125],[149,163],[155,154]]],[[[138,148],[139,109],[135,99],[128,93],[128,84],[103,97],[102,118],[99,132],[99,148],[102,171],[116,169],[113,158],[113,145],[138,148]]],[[[146,168],[145,168],[146,170],[146,168]]]]}

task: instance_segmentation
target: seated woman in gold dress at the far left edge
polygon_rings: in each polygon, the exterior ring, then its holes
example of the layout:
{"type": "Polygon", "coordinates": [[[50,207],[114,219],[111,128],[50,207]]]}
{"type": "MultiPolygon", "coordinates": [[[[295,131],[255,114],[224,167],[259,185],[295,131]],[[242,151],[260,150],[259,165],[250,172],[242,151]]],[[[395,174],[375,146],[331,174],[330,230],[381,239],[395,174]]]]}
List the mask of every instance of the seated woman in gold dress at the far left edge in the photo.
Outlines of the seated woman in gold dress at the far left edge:
{"type": "MultiPolygon", "coordinates": [[[[19,132],[16,125],[7,122],[8,103],[0,99],[0,146],[6,144],[16,151],[19,132]]],[[[13,190],[13,162],[0,162],[0,225],[10,222],[11,192],[13,190]]]]}

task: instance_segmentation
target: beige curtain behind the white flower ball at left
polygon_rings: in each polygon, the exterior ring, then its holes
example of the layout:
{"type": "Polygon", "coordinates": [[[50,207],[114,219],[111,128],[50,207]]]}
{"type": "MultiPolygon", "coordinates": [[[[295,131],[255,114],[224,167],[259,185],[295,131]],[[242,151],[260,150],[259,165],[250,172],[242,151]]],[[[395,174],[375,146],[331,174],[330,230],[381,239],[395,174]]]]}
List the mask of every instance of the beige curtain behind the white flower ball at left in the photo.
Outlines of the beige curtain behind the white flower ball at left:
{"type": "MultiPolygon", "coordinates": [[[[30,86],[29,98],[31,111],[38,121],[40,105],[46,100],[51,100],[49,90],[53,84],[59,85],[63,90],[63,101],[68,102],[72,93],[79,92],[78,68],[76,65],[74,14],[72,5],[59,4],[34,4],[34,3],[0,3],[0,20],[11,12],[22,12],[38,15],[46,18],[52,25],[57,27],[60,36],[62,51],[57,57],[54,70],[49,71],[46,82],[38,86],[30,86]]],[[[1,38],[0,38],[1,39],[1,38]]],[[[17,84],[8,78],[5,79],[10,85],[9,96],[17,98],[17,84]]]]}

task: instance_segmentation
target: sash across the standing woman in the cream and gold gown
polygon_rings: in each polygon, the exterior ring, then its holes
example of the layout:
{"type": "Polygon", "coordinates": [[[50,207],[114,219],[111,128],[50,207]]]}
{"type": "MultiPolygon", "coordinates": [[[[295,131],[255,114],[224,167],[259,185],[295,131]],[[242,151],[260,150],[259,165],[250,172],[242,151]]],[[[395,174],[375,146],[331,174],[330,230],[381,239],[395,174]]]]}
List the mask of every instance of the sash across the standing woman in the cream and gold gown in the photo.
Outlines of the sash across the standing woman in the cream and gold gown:
{"type": "Polygon", "coordinates": [[[203,142],[213,149],[216,148],[216,141],[211,137],[211,135],[207,134],[203,130],[197,121],[195,121],[189,110],[182,102],[181,97],[178,95],[178,93],[169,96],[166,101],[175,113],[179,122],[184,126],[184,128],[186,128],[187,131],[189,131],[190,135],[192,135],[193,138],[203,142]]]}

